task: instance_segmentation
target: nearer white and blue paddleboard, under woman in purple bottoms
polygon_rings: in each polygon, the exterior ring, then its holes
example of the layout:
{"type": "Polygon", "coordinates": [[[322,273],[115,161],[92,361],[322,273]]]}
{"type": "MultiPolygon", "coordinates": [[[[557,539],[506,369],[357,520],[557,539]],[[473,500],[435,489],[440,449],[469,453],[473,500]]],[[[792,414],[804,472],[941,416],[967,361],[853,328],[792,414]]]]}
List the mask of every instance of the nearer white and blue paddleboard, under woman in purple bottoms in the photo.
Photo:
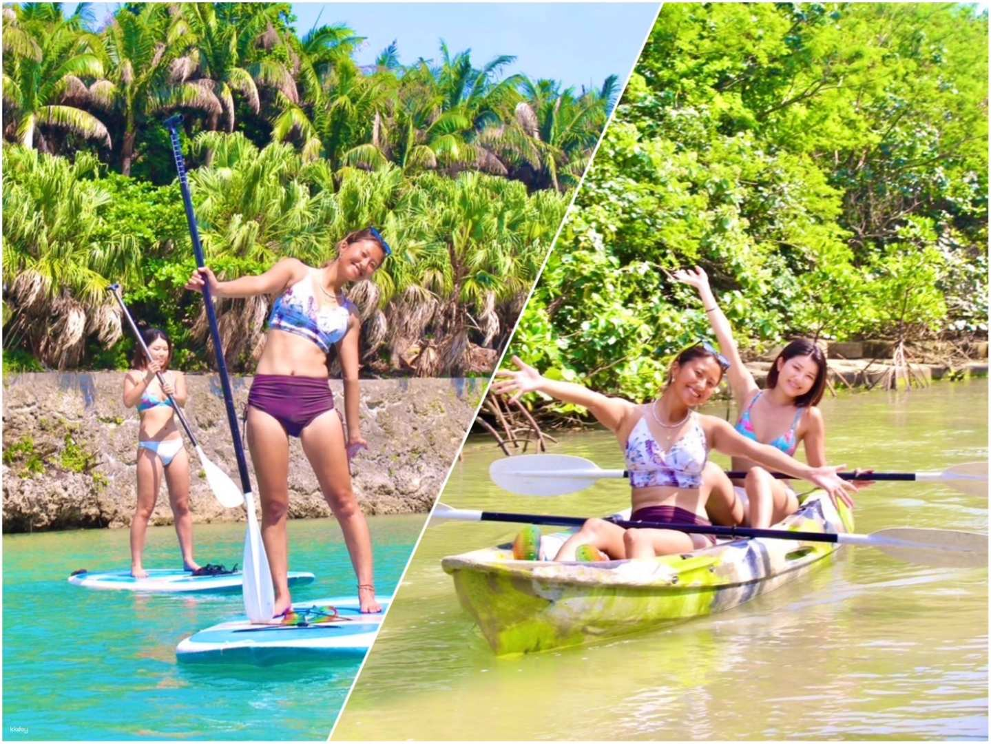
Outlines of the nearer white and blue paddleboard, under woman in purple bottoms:
{"type": "Polygon", "coordinates": [[[184,638],[181,662],[246,661],[272,664],[311,658],[361,657],[375,642],[391,596],[376,597],[382,612],[362,614],[357,596],[293,602],[284,624],[255,624],[247,617],[222,622],[184,638]],[[335,611],[336,610],[336,611],[335,611]]]}

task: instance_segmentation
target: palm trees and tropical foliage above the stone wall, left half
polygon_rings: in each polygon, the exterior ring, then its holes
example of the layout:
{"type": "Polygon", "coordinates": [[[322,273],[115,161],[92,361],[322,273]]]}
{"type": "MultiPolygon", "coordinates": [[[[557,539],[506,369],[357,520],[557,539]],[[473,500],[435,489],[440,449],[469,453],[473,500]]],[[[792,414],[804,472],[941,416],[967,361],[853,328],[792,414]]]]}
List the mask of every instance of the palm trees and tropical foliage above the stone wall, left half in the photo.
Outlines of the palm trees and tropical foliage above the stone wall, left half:
{"type": "MultiPolygon", "coordinates": [[[[375,224],[396,247],[353,287],[368,370],[491,369],[613,104],[615,78],[576,92],[441,43],[373,68],[340,24],[302,37],[286,3],[3,9],[4,352],[24,369],[120,366],[131,342],[105,287],[122,283],[184,369],[209,365],[170,144],[183,147],[219,274],[331,257],[375,224]],[[531,123],[533,126],[531,126],[531,123]]],[[[219,306],[248,371],[269,298],[219,306]]]]}

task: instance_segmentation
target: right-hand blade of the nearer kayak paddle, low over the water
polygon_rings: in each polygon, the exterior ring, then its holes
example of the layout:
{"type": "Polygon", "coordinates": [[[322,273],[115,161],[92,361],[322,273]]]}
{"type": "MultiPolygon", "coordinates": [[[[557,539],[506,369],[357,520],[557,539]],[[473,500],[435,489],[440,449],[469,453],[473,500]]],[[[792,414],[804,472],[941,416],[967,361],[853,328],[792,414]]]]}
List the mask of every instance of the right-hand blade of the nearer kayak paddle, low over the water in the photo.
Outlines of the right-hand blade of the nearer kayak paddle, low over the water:
{"type": "Polygon", "coordinates": [[[866,543],[906,563],[957,569],[988,565],[988,537],[976,532],[895,527],[872,533],[866,543]]]}

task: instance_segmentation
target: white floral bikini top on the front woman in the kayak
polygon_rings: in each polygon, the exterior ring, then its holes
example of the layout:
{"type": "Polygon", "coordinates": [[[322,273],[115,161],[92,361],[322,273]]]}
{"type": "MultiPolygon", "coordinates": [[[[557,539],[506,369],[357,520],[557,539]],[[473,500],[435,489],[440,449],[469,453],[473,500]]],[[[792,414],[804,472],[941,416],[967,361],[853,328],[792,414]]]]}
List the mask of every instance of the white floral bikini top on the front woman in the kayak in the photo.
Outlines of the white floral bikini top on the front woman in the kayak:
{"type": "Polygon", "coordinates": [[[673,485],[678,488],[698,488],[702,472],[709,460],[706,432],[699,425],[695,412],[692,423],[681,439],[667,452],[650,433],[647,417],[641,416],[626,440],[626,470],[634,488],[652,485],[673,485]]]}

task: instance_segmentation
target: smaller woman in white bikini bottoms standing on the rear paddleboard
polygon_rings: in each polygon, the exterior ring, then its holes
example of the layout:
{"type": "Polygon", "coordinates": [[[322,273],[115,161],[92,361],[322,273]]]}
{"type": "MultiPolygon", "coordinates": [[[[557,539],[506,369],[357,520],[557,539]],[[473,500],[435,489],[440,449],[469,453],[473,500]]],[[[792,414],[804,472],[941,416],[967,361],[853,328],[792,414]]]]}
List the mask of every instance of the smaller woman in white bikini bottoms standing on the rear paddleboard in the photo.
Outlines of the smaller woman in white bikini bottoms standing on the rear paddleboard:
{"type": "Polygon", "coordinates": [[[124,375],[124,405],[137,406],[141,419],[138,430],[138,505],[131,520],[131,576],[146,579],[142,566],[148,520],[159,498],[163,476],[172,507],[175,534],[182,552],[182,568],[198,571],[192,558],[192,515],[189,513],[189,458],[182,446],[182,435],[175,427],[172,403],[185,405],[185,376],[168,370],[172,359],[172,342],[165,331],[149,328],[142,332],[151,353],[148,359],[139,346],[132,364],[134,370],[124,375]],[[165,384],[156,374],[162,372],[165,384]]]}

